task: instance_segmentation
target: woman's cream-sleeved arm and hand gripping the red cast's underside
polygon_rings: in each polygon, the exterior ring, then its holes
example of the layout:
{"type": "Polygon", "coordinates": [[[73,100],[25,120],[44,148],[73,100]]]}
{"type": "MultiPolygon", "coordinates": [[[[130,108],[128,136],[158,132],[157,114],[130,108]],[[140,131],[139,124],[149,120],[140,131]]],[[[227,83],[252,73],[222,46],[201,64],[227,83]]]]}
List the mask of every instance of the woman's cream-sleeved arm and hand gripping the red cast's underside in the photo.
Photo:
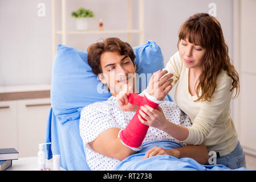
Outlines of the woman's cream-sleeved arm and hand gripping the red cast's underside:
{"type": "Polygon", "coordinates": [[[145,125],[156,127],[165,131],[173,138],[187,144],[201,144],[213,129],[217,118],[223,114],[227,104],[229,104],[232,93],[230,92],[231,81],[229,77],[223,77],[218,80],[216,91],[213,93],[212,101],[204,101],[201,109],[194,119],[192,127],[178,126],[169,122],[161,109],[157,110],[145,105],[139,111],[139,119],[145,125]]]}

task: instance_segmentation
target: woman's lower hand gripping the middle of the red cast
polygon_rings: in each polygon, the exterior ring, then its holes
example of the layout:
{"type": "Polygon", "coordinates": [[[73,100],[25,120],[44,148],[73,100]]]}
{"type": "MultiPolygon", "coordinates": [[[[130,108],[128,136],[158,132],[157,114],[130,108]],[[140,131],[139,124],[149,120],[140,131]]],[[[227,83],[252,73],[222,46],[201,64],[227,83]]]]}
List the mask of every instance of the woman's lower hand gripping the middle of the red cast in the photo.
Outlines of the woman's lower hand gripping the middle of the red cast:
{"type": "Polygon", "coordinates": [[[151,106],[141,106],[138,114],[141,123],[163,130],[169,121],[165,118],[164,111],[160,106],[154,109],[151,106]],[[144,118],[144,119],[143,119],[144,118]]]}

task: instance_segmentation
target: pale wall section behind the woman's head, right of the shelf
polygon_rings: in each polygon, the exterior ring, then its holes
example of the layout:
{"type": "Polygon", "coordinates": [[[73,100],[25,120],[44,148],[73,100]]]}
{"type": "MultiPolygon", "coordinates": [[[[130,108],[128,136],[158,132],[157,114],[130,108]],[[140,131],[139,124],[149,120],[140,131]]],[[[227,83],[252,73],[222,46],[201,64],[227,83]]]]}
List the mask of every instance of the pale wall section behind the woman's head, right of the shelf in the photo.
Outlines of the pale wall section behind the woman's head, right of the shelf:
{"type": "MultiPolygon", "coordinates": [[[[155,40],[166,61],[177,51],[178,30],[190,15],[208,13],[210,3],[216,3],[220,21],[230,51],[232,50],[232,1],[206,0],[146,0],[145,39],[155,40]]],[[[230,52],[232,54],[232,52],[230,52]]],[[[230,54],[230,55],[231,55],[230,54]]]]}

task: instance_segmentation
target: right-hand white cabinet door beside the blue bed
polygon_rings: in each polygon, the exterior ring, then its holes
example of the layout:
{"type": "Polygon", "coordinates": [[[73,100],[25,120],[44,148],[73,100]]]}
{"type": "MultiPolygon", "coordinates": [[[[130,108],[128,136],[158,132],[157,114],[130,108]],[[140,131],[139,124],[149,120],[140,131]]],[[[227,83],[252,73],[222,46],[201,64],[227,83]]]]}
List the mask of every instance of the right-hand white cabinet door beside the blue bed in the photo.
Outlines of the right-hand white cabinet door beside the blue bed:
{"type": "Polygon", "coordinates": [[[17,101],[19,157],[36,156],[44,142],[50,98],[17,101]]]}

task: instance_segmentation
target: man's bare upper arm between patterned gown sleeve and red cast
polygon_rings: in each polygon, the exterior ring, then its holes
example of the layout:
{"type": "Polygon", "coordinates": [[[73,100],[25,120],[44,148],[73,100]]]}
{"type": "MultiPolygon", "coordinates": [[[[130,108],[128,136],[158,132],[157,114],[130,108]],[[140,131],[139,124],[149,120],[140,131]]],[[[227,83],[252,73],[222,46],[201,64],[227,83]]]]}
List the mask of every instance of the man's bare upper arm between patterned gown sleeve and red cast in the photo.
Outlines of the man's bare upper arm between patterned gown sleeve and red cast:
{"type": "Polygon", "coordinates": [[[116,127],[104,130],[89,144],[96,152],[104,156],[123,160],[129,155],[135,154],[136,151],[121,143],[121,140],[118,137],[119,131],[120,129],[116,127]]]}

